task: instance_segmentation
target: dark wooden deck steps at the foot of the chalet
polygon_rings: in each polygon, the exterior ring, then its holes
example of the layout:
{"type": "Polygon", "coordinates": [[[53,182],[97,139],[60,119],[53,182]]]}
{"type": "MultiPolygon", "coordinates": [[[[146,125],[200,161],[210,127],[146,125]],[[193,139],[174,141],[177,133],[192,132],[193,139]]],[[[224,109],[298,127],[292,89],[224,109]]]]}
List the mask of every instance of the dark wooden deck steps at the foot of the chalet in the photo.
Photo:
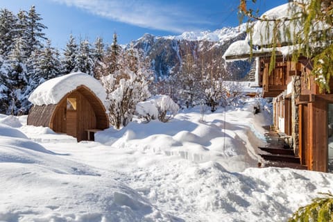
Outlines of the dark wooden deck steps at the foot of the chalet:
{"type": "Polygon", "coordinates": [[[289,167],[293,169],[307,169],[307,166],[300,164],[300,157],[296,156],[291,148],[291,138],[284,133],[274,130],[270,126],[264,126],[266,130],[266,146],[258,147],[259,153],[266,163],[264,167],[289,167]]]}

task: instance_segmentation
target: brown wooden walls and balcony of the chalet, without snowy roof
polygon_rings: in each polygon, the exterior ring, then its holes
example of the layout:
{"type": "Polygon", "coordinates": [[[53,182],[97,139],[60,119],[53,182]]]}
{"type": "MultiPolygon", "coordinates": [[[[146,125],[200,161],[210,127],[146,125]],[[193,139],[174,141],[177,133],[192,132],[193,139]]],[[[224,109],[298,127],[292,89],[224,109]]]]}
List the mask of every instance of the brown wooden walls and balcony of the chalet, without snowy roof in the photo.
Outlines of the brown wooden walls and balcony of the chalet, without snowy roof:
{"type": "MultiPolygon", "coordinates": [[[[247,55],[226,56],[226,59],[247,55]]],[[[319,92],[311,76],[311,60],[292,62],[279,53],[269,71],[270,54],[259,57],[262,96],[273,98],[273,128],[290,138],[300,164],[313,171],[333,172],[333,94],[319,92]]],[[[331,82],[330,91],[333,92],[331,82]]]]}

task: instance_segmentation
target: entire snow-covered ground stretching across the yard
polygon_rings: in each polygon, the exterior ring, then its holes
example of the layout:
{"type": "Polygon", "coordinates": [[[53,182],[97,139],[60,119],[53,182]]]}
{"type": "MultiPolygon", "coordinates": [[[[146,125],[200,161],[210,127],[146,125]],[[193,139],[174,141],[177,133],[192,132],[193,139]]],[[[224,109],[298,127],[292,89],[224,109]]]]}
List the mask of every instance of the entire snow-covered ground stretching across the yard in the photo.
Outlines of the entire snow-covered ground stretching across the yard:
{"type": "Polygon", "coordinates": [[[0,115],[0,221],[286,221],[333,174],[258,168],[254,103],[80,143],[0,115]]]}

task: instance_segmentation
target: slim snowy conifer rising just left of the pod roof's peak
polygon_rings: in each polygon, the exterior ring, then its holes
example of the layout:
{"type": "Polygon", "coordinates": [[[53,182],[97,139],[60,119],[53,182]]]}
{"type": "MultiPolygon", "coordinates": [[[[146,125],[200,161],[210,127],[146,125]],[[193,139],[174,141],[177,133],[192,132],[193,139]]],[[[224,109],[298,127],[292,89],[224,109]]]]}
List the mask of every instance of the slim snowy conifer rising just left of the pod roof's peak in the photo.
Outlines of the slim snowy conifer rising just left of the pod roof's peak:
{"type": "Polygon", "coordinates": [[[69,41],[66,44],[64,58],[62,59],[62,74],[70,74],[75,71],[76,56],[78,54],[78,44],[73,35],[69,35],[69,41]]]}

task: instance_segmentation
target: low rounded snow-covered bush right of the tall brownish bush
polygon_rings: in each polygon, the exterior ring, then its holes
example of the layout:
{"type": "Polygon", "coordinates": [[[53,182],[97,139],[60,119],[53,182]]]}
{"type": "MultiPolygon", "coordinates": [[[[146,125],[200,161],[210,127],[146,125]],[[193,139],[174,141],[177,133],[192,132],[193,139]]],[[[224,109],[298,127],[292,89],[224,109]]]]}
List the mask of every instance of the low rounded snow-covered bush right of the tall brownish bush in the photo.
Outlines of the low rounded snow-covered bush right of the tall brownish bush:
{"type": "Polygon", "coordinates": [[[167,122],[177,114],[179,106],[167,95],[157,95],[150,100],[137,103],[136,111],[140,117],[147,121],[158,118],[162,122],[167,122]]]}

